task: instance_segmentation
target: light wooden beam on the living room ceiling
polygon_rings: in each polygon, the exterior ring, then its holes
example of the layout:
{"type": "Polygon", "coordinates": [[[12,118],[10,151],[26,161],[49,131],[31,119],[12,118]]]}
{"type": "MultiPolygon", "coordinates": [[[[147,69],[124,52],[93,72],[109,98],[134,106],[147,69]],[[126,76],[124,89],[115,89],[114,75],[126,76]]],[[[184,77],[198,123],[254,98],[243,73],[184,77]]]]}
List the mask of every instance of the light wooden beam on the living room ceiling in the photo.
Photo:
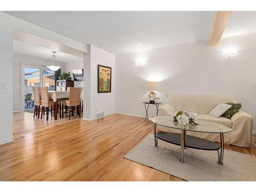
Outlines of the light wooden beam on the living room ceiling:
{"type": "Polygon", "coordinates": [[[217,46],[228,23],[232,11],[217,11],[212,24],[209,46],[217,46]]]}

